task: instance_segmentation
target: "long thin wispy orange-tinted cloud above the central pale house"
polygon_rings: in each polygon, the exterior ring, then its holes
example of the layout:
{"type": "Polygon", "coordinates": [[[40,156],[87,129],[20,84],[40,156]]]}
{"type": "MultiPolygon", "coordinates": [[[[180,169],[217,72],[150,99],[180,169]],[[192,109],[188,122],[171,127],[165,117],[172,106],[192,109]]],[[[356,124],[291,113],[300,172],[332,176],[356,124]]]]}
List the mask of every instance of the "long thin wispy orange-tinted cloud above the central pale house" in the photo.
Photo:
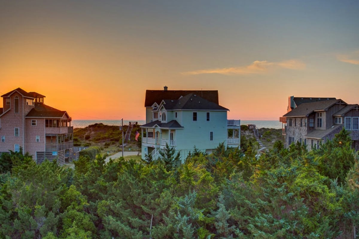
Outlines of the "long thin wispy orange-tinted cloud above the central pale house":
{"type": "Polygon", "coordinates": [[[207,70],[196,70],[182,72],[183,75],[200,75],[200,74],[222,74],[222,75],[248,75],[248,74],[261,74],[280,68],[290,70],[303,70],[306,67],[302,61],[288,60],[281,62],[268,62],[268,61],[255,61],[248,66],[228,67],[228,68],[214,68],[207,70]]]}

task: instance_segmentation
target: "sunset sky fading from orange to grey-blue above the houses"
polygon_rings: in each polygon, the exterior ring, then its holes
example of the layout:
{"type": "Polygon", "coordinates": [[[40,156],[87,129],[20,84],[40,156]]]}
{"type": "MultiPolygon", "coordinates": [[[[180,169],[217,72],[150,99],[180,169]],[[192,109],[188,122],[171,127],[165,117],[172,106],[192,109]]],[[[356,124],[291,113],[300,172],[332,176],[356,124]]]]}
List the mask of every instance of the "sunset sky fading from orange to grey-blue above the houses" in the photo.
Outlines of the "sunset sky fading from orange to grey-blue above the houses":
{"type": "Polygon", "coordinates": [[[73,119],[145,119],[165,85],[218,90],[228,119],[279,120],[290,95],[356,104],[359,1],[2,1],[0,83],[73,119]]]}

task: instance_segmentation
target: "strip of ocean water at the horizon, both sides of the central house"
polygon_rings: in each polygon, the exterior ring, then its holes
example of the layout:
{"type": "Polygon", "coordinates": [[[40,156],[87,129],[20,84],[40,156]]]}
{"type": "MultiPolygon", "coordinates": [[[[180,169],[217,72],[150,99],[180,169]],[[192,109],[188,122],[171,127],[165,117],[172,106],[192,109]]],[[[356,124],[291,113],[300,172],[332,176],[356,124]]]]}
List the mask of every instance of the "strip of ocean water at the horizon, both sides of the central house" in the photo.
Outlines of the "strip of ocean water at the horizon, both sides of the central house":
{"type": "MultiPolygon", "coordinates": [[[[123,125],[128,125],[129,122],[138,122],[139,125],[146,123],[146,120],[123,120],[123,125]]],[[[116,125],[121,126],[121,120],[73,120],[71,125],[74,128],[85,128],[92,124],[105,124],[105,125],[116,125]]],[[[260,128],[271,128],[271,129],[281,129],[282,123],[279,120],[241,120],[241,125],[255,124],[258,129],[260,128]]]]}

